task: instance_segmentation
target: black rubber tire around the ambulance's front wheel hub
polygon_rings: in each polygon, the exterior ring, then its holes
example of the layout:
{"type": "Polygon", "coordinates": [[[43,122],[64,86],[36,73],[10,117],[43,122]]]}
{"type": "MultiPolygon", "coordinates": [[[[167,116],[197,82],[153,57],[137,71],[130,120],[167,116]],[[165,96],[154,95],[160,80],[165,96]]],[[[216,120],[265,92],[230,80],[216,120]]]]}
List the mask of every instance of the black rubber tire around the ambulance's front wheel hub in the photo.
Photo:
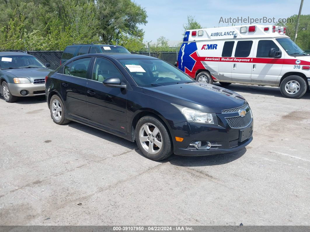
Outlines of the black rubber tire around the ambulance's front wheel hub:
{"type": "Polygon", "coordinates": [[[284,78],[280,84],[281,94],[286,98],[301,98],[307,92],[307,87],[308,86],[306,80],[297,75],[292,75],[284,78]],[[290,81],[298,83],[299,90],[296,93],[292,92],[292,94],[289,94],[288,91],[290,90],[286,90],[286,84],[288,84],[290,81]]]}

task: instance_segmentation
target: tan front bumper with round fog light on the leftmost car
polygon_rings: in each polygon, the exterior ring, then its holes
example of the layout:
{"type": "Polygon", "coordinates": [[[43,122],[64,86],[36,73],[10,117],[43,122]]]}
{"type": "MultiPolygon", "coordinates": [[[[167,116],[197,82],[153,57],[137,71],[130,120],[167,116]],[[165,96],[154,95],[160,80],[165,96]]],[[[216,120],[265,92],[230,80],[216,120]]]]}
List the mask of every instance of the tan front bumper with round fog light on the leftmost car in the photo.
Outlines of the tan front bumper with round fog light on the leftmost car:
{"type": "Polygon", "coordinates": [[[30,97],[30,96],[38,96],[45,94],[45,84],[14,84],[14,83],[7,83],[9,90],[12,95],[18,97],[30,97]],[[27,90],[27,95],[21,95],[21,90],[27,90]]]}

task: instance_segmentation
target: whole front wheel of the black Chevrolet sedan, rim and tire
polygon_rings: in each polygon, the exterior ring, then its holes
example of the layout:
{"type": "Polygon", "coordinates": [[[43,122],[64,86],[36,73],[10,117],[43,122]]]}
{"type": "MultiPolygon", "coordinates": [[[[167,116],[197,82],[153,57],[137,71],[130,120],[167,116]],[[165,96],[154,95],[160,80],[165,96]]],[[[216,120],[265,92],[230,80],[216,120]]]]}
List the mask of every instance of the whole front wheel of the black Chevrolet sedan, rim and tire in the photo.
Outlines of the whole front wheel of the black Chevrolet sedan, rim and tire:
{"type": "Polygon", "coordinates": [[[163,160],[172,154],[172,142],[164,122],[153,116],[142,117],[136,126],[136,143],[150,160],[163,160]]]}

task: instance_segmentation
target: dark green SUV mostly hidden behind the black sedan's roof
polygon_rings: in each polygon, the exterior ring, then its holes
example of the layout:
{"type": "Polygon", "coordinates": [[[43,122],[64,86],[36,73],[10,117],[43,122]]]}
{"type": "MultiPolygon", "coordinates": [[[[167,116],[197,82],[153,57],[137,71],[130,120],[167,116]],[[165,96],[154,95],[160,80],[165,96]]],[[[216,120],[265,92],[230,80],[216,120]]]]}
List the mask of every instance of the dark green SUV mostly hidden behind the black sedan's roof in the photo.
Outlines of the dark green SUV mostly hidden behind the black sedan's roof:
{"type": "Polygon", "coordinates": [[[130,54],[123,46],[112,44],[73,44],[67,46],[61,56],[60,65],[78,55],[84,55],[88,53],[125,53],[130,54]]]}

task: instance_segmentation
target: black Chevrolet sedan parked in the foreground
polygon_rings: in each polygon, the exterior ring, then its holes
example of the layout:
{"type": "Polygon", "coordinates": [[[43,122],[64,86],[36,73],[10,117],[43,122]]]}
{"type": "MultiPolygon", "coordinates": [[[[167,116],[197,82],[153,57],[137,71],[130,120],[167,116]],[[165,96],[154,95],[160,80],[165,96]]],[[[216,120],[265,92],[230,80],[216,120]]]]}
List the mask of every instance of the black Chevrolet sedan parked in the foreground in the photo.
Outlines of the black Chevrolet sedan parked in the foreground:
{"type": "Polygon", "coordinates": [[[136,141],[151,160],[226,153],[252,141],[242,96],[150,56],[74,57],[46,77],[46,99],[55,123],[73,120],[136,141]]]}

